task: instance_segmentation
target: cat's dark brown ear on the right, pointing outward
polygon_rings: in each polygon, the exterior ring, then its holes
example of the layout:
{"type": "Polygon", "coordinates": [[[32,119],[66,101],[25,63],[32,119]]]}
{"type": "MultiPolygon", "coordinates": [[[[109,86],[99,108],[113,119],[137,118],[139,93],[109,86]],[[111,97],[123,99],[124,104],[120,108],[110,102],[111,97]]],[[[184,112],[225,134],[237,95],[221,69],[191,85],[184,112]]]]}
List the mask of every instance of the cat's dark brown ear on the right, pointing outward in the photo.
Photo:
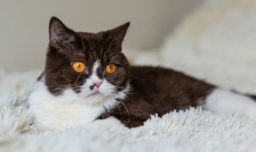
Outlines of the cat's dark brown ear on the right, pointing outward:
{"type": "Polygon", "coordinates": [[[111,40],[112,43],[116,43],[121,46],[129,26],[130,22],[127,22],[123,25],[106,31],[108,33],[108,39],[111,40]]]}

